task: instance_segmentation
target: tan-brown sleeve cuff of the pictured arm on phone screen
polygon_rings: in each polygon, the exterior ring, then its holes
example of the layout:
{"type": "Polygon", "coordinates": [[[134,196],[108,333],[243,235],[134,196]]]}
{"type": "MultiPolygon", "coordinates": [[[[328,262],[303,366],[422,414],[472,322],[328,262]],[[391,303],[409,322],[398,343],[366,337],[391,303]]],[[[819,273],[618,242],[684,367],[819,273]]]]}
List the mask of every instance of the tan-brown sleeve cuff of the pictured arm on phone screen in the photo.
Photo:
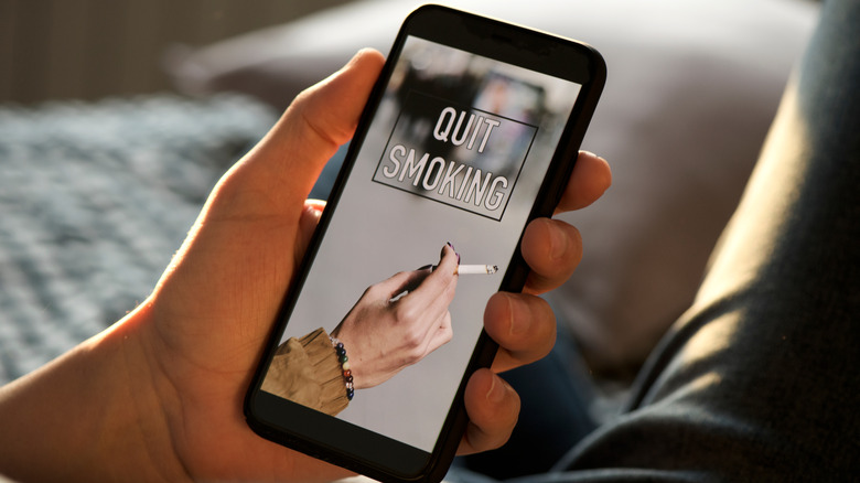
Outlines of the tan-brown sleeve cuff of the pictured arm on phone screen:
{"type": "Polygon", "coordinates": [[[332,416],[350,404],[337,354],[322,329],[278,347],[262,390],[332,416]]]}

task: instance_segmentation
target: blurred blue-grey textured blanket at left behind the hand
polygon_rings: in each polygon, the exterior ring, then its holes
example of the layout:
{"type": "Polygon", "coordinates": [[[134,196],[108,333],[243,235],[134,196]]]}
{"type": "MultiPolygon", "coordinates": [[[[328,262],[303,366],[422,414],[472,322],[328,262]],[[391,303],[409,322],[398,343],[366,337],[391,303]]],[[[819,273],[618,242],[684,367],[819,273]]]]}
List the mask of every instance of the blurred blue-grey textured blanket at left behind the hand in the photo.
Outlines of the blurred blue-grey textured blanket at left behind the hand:
{"type": "Polygon", "coordinates": [[[276,119],[232,94],[0,105],[0,384],[146,299],[276,119]]]}

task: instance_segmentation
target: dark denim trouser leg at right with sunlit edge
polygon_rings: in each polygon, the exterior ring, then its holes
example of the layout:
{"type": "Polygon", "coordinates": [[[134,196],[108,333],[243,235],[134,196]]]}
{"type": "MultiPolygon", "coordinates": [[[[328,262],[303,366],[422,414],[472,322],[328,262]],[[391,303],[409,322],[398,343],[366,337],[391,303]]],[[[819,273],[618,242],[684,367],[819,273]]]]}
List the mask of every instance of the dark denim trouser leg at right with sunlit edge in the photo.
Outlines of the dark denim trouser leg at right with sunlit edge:
{"type": "Polygon", "coordinates": [[[824,6],[694,307],[624,414],[517,481],[857,480],[858,26],[857,0],[824,6]]]}

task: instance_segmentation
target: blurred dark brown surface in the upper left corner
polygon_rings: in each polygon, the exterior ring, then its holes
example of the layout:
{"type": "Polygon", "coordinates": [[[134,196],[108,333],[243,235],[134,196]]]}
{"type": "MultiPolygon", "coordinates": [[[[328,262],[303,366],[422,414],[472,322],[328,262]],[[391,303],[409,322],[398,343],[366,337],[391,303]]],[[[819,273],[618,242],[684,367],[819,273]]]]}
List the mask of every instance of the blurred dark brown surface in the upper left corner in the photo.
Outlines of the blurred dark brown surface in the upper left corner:
{"type": "Polygon", "coordinates": [[[0,0],[0,103],[171,88],[165,55],[348,0],[0,0]]]}

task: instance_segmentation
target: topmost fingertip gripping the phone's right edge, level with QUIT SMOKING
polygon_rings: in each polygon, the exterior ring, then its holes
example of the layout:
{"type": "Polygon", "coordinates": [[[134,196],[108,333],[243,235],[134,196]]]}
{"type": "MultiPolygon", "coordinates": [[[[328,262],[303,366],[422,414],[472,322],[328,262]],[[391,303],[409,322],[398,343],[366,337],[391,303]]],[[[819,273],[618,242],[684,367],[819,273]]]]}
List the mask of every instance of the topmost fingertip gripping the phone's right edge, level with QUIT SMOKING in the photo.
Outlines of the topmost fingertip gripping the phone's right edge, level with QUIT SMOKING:
{"type": "Polygon", "coordinates": [[[594,203],[611,184],[612,170],[606,160],[594,153],[580,151],[556,213],[583,208],[594,203]]]}

